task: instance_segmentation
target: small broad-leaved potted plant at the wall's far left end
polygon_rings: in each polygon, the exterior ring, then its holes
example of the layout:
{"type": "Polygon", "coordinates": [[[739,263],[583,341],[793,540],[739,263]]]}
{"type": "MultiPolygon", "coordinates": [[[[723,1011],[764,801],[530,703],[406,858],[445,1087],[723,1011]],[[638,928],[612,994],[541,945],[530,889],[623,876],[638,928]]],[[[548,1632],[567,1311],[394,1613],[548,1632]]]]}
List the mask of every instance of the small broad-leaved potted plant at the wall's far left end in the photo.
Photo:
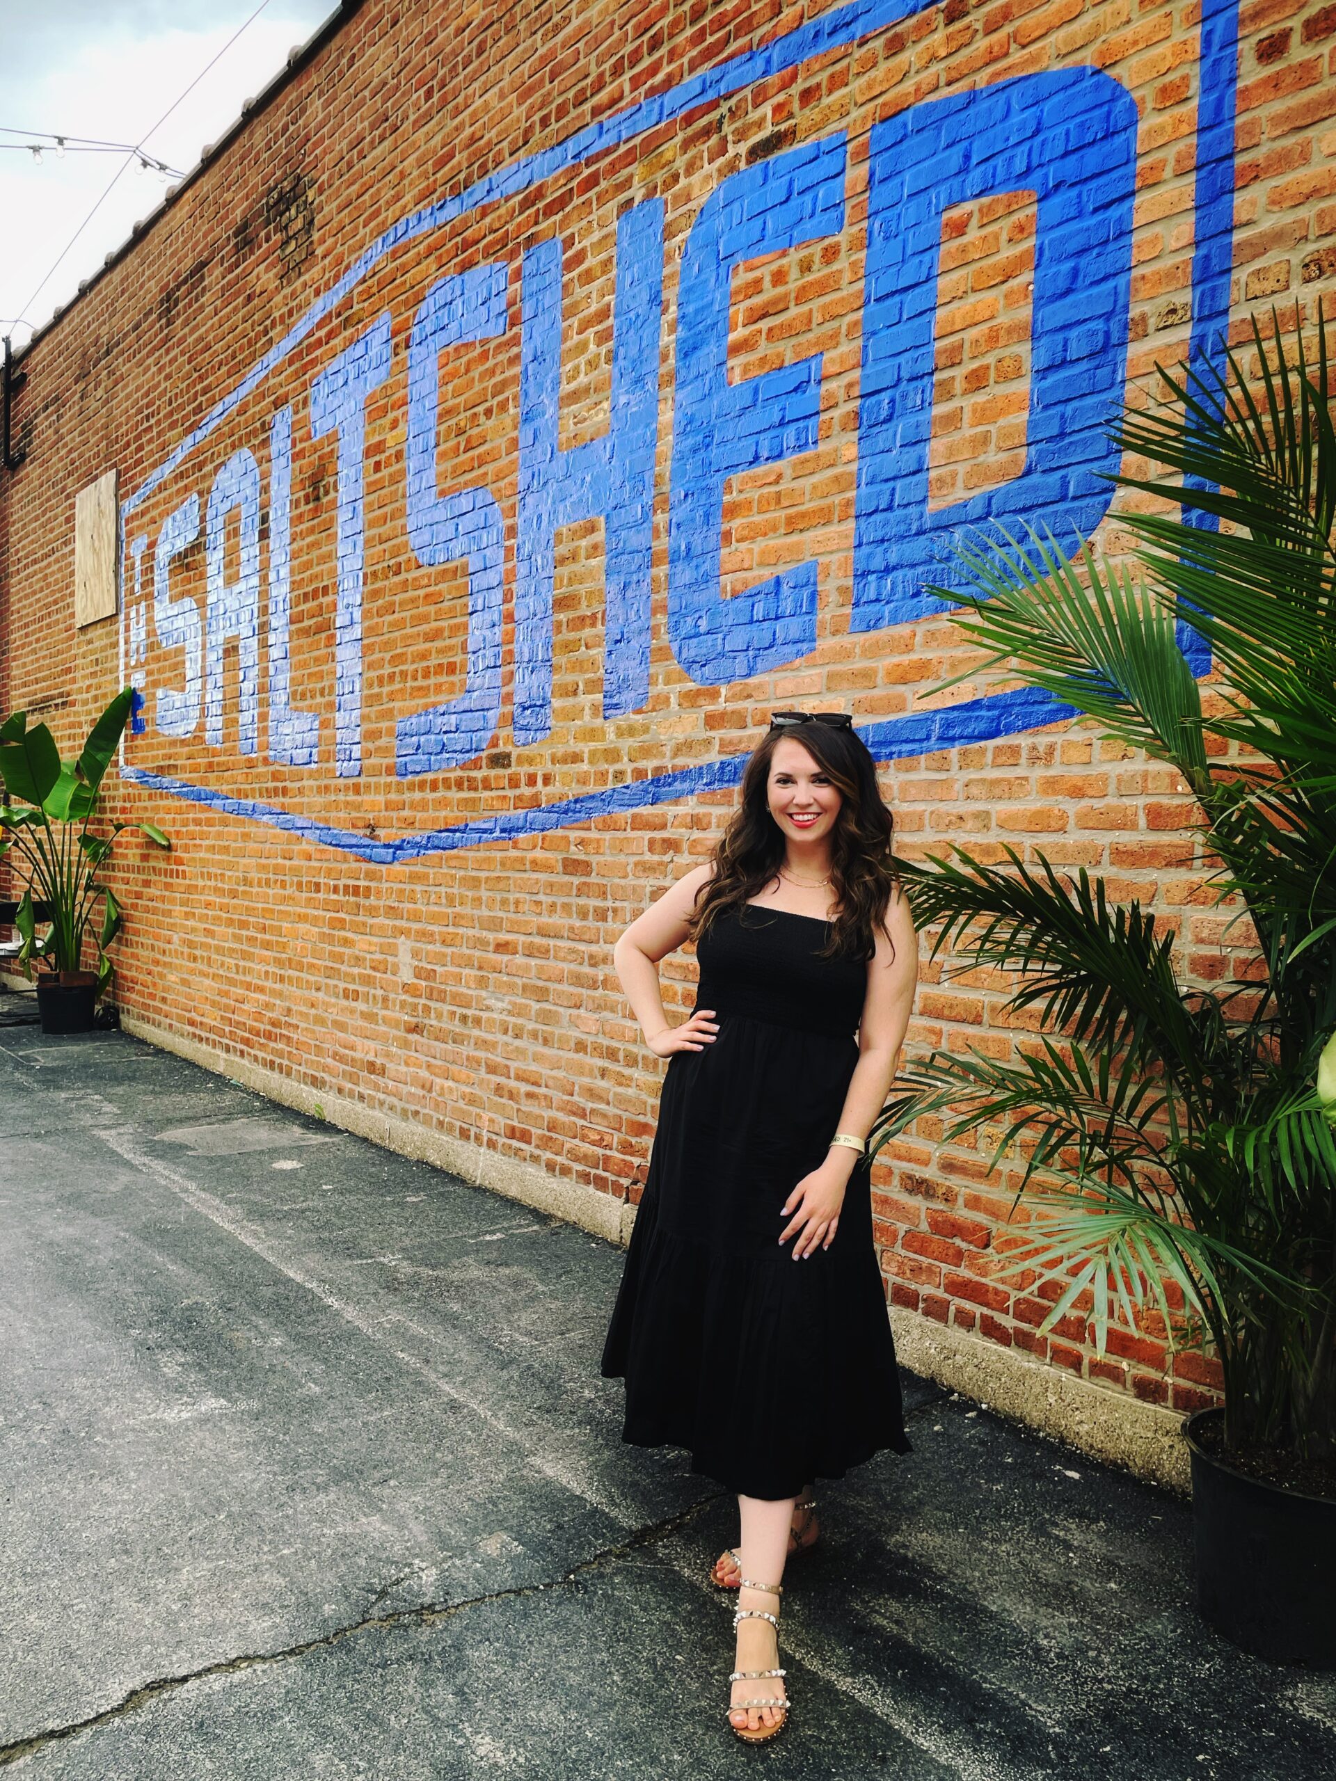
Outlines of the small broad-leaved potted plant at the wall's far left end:
{"type": "Polygon", "coordinates": [[[121,930],[121,905],[98,873],[110,857],[116,837],[137,828],[155,846],[171,842],[155,823],[112,823],[109,835],[89,832],[98,789],[121,741],[135,693],[125,687],[93,725],[77,760],[62,760],[45,723],[29,728],[27,712],[16,711],[0,723],[0,858],[27,878],[14,912],[23,942],[18,960],[37,974],[37,1008],[45,1033],[84,1033],[93,1026],[98,996],[112,976],[107,947],[121,930]],[[41,908],[45,905],[45,908],[41,908]],[[37,912],[50,930],[37,935],[37,912]],[[93,971],[84,969],[84,942],[96,953],[93,971]]]}

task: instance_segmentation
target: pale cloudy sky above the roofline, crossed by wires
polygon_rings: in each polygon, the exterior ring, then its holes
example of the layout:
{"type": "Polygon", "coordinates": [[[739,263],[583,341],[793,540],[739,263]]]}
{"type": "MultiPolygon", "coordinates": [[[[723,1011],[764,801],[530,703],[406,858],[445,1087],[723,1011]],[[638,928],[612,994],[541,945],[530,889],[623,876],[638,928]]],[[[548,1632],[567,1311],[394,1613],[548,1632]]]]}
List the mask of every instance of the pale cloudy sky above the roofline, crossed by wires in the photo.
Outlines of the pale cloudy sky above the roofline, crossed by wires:
{"type": "Polygon", "coordinates": [[[37,160],[23,146],[36,132],[143,144],[185,173],[331,11],[335,0],[0,0],[0,144],[20,144],[0,148],[0,337],[25,346],[171,183],[119,153],[46,148],[37,160]]]}

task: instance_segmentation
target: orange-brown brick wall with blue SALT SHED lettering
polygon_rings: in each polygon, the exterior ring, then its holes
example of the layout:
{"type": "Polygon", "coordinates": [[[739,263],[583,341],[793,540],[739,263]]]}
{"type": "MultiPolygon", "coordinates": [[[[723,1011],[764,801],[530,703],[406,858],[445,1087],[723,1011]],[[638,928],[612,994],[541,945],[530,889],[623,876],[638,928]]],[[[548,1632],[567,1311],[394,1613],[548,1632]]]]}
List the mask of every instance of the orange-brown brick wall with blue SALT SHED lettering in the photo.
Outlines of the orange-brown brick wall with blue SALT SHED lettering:
{"type": "MultiPolygon", "coordinates": [[[[798,702],[907,855],[1042,846],[1233,969],[1174,775],[935,693],[921,588],[964,520],[1117,547],[1099,419],[1250,303],[1311,319],[1334,46],[1299,0],[346,5],[25,354],[0,705],[71,743],[143,689],[126,1022],[625,1234],[663,1067],[611,947],[798,702]],[[121,614],[75,632],[112,467],[121,614]]],[[[1003,990],[926,972],[912,1045],[1005,1053],[1003,990]]],[[[1039,1338],[985,1159],[878,1167],[903,1352],[1169,1475],[1210,1366],[1039,1338]]]]}

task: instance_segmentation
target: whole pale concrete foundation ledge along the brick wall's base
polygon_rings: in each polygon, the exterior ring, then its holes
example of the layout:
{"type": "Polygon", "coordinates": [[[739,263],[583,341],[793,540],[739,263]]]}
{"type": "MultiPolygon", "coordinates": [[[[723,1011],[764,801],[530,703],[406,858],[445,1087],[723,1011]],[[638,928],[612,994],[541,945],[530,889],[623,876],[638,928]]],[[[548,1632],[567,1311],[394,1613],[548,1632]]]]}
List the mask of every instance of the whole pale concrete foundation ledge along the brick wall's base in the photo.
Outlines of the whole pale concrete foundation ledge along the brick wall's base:
{"type": "MultiPolygon", "coordinates": [[[[269,1101],[324,1118],[340,1131],[369,1138],[399,1156],[433,1163],[479,1188],[490,1188],[536,1211],[565,1218],[566,1224],[591,1231],[609,1243],[631,1241],[634,1206],[595,1188],[563,1181],[536,1163],[451,1138],[429,1126],[381,1113],[331,1090],[294,1083],[278,1070],[226,1056],[173,1028],[144,1021],[128,1008],[121,1010],[121,1028],[132,1038],[171,1051],[269,1101]]],[[[1014,1348],[1001,1348],[998,1343],[907,1311],[891,1311],[891,1329],[896,1354],[910,1371],[987,1403],[1012,1421],[1055,1435],[1092,1459],[1122,1466],[1172,1491],[1188,1491],[1188,1448],[1179,1432],[1183,1423],[1179,1414],[1104,1386],[1092,1386],[1060,1368],[1031,1361],[1014,1348]]]]}

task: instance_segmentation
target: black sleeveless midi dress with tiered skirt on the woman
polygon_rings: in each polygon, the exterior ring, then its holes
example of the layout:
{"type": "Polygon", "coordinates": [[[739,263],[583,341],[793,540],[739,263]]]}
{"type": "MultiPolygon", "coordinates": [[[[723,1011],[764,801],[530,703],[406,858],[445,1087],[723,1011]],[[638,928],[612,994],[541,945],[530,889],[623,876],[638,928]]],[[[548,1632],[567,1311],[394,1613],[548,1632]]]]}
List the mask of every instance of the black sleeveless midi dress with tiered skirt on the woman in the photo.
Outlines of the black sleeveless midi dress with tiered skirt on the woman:
{"type": "Polygon", "coordinates": [[[746,903],[702,933],[695,1006],[718,1035],[668,1060],[600,1366],[627,1382],[623,1441],[688,1448],[691,1471],[771,1500],[910,1452],[868,1161],[830,1248],[794,1261],[796,1234],[778,1241],[859,1061],[868,965],[819,958],[828,931],[746,903]]]}

